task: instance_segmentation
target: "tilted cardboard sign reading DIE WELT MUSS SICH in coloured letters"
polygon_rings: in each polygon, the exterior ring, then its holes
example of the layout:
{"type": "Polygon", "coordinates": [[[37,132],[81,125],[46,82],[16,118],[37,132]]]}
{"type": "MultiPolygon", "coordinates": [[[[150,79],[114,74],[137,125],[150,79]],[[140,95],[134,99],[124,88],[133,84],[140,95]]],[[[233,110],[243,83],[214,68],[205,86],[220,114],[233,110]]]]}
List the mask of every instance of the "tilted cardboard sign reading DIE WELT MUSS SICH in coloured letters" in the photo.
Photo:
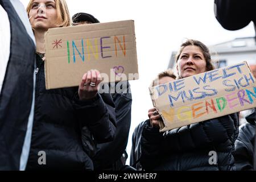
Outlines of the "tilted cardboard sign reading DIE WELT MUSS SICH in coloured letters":
{"type": "Polygon", "coordinates": [[[160,131],[256,107],[256,83],[246,61],[150,88],[160,131]]]}

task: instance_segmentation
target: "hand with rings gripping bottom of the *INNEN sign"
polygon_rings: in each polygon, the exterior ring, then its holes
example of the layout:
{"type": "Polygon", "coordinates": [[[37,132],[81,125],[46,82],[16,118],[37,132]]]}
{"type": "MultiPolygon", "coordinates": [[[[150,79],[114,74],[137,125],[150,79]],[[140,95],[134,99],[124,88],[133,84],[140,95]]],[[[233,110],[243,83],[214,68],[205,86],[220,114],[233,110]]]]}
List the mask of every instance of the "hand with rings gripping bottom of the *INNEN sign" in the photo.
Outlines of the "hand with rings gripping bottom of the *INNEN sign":
{"type": "Polygon", "coordinates": [[[96,69],[91,69],[85,73],[79,85],[79,99],[89,100],[95,97],[98,92],[98,84],[100,84],[101,81],[100,72],[96,69]]]}

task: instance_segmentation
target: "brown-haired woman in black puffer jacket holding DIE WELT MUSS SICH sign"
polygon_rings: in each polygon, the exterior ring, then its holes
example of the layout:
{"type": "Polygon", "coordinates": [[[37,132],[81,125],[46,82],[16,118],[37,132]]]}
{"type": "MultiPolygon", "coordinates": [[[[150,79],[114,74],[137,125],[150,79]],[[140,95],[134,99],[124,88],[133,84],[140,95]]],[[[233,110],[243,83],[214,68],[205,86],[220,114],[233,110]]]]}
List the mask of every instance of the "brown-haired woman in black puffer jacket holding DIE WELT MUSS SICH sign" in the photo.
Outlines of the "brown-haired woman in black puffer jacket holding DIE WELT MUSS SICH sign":
{"type": "MultiPolygon", "coordinates": [[[[198,40],[181,44],[176,55],[177,78],[214,69],[207,46],[198,40]]],[[[141,164],[146,170],[236,170],[234,141],[238,136],[238,113],[159,132],[160,115],[154,111],[144,122],[141,164]],[[210,161],[213,154],[214,160],[210,161]]]]}

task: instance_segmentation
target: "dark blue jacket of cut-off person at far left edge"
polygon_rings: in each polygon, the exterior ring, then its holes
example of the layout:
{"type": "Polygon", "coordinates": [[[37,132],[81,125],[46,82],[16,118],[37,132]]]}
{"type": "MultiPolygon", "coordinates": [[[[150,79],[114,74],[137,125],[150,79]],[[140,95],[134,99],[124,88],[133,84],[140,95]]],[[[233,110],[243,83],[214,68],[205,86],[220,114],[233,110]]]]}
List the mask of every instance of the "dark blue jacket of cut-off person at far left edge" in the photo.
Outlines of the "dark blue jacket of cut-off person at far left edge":
{"type": "Polygon", "coordinates": [[[35,44],[11,2],[0,0],[0,4],[9,16],[11,30],[10,57],[0,95],[0,170],[19,170],[32,104],[35,44]]]}

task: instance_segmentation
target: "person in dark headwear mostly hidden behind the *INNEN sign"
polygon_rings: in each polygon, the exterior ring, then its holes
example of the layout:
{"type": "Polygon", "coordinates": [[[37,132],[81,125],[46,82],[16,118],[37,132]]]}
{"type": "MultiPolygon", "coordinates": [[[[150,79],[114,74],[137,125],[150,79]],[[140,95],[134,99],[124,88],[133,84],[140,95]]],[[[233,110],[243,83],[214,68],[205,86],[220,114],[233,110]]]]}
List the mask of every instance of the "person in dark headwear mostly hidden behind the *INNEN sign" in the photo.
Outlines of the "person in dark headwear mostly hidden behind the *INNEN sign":
{"type": "MultiPolygon", "coordinates": [[[[100,23],[93,15],[88,13],[76,13],[72,16],[72,25],[100,23]]],[[[93,158],[94,169],[96,170],[134,170],[126,165],[126,146],[131,125],[131,90],[129,81],[110,83],[109,88],[114,88],[115,93],[112,98],[115,105],[115,116],[117,128],[113,142],[108,143],[88,143],[89,133],[86,127],[82,129],[82,142],[84,150],[88,151],[93,158]],[[118,86],[122,85],[122,86],[118,86]],[[113,150],[114,148],[114,150],[113,150]]],[[[110,89],[109,89],[110,90],[110,89]]]]}

